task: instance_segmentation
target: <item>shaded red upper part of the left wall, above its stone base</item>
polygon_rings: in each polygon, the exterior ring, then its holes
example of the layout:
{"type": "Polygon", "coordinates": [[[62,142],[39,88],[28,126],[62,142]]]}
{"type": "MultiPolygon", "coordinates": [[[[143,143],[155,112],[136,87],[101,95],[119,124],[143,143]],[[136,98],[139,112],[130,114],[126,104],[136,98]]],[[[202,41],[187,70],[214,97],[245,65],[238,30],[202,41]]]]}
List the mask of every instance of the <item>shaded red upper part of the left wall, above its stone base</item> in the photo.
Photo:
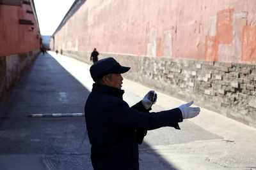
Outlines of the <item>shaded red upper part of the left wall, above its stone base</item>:
{"type": "Polygon", "coordinates": [[[40,35],[38,25],[33,14],[26,13],[31,10],[28,4],[9,6],[0,3],[0,56],[15,53],[30,52],[40,48],[40,35]],[[31,25],[19,24],[19,20],[31,20],[35,25],[33,31],[31,25]]]}

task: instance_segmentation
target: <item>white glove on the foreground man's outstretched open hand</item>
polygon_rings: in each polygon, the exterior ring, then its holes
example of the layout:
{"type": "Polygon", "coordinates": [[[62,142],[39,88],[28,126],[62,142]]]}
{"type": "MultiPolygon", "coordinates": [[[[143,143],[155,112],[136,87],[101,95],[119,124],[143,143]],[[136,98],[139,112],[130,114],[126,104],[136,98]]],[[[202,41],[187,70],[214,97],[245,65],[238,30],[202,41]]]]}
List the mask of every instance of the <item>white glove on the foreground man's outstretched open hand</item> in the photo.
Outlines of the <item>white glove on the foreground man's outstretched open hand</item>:
{"type": "Polygon", "coordinates": [[[187,104],[182,104],[181,106],[179,106],[179,109],[182,113],[182,117],[185,118],[193,118],[196,117],[199,112],[200,112],[200,108],[199,107],[189,107],[194,103],[194,101],[191,101],[187,104]]]}

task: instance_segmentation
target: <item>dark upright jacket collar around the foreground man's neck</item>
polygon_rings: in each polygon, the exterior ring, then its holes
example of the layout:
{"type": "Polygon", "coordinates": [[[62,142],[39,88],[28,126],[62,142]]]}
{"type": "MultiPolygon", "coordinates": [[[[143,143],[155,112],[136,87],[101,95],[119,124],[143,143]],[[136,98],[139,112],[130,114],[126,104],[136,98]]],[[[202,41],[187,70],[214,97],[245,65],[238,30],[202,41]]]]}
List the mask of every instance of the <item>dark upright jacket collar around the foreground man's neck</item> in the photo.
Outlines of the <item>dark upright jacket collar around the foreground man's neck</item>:
{"type": "Polygon", "coordinates": [[[112,96],[119,97],[123,99],[124,90],[116,89],[115,87],[109,87],[107,85],[100,85],[93,83],[92,85],[92,92],[102,93],[102,94],[109,94],[112,96]]]}

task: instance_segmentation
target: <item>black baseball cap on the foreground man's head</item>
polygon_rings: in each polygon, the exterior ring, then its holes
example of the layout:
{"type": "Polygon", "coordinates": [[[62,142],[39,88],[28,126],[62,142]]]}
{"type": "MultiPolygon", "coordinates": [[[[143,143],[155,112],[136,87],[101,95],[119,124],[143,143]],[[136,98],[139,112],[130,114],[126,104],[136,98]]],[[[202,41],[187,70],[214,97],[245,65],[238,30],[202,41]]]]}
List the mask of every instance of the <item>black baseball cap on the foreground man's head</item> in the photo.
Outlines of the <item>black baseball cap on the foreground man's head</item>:
{"type": "Polygon", "coordinates": [[[122,74],[129,71],[131,67],[121,66],[113,57],[98,60],[90,67],[90,73],[93,81],[97,81],[100,78],[110,73],[122,74]]]}

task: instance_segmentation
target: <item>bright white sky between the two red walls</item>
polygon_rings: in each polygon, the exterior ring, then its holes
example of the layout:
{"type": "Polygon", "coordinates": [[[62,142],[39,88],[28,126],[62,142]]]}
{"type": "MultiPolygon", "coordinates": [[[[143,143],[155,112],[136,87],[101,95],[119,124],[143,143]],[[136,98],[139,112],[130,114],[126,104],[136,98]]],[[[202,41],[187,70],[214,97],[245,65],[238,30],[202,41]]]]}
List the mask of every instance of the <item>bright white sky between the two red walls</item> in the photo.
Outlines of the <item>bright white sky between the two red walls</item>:
{"type": "Polygon", "coordinates": [[[43,36],[51,36],[75,0],[34,0],[36,15],[43,36]]]}

